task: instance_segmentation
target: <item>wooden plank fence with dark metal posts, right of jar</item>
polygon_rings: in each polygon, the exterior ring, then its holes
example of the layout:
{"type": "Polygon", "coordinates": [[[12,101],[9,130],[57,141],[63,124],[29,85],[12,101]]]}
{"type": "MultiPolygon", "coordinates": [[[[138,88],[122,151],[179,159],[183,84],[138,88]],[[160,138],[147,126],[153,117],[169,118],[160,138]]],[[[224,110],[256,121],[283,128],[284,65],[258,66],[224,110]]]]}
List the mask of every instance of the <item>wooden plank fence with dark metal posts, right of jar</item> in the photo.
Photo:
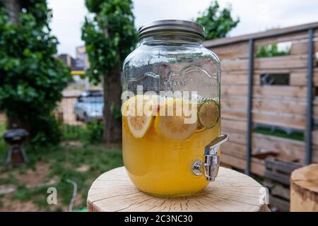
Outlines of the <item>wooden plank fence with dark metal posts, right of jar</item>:
{"type": "Polygon", "coordinates": [[[230,136],[221,150],[223,164],[263,175],[261,153],[318,162],[318,130],[314,128],[318,121],[317,28],[318,23],[311,23],[204,42],[218,55],[222,67],[222,130],[230,136]],[[291,43],[290,54],[256,56],[260,45],[281,42],[291,43]],[[288,74],[289,84],[261,85],[261,75],[266,73],[288,74]],[[254,133],[254,123],[303,131],[305,141],[254,133]]]}

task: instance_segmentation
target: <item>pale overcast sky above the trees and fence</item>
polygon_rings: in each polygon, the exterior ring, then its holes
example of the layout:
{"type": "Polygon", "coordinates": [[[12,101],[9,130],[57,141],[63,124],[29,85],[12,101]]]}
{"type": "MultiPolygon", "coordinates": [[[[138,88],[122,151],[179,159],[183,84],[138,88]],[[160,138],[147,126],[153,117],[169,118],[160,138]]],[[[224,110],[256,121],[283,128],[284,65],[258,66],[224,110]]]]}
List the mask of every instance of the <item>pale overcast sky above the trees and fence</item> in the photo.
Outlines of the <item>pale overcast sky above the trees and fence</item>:
{"type": "MultiPolygon", "coordinates": [[[[153,20],[195,18],[211,0],[134,0],[136,28],[153,20]]],[[[240,23],[229,36],[318,21],[318,0],[219,0],[232,4],[232,15],[240,23]]],[[[48,0],[53,10],[52,32],[59,39],[59,54],[75,55],[81,41],[81,24],[87,14],[84,0],[48,0]]]]}

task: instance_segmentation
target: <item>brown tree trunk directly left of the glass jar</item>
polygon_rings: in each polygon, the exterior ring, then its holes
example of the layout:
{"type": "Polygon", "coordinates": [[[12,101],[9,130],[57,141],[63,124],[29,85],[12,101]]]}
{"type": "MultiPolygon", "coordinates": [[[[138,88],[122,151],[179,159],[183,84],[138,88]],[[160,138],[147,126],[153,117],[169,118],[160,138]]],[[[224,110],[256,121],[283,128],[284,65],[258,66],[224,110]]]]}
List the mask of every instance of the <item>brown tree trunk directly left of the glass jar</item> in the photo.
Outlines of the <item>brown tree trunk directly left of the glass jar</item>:
{"type": "Polygon", "coordinates": [[[102,79],[104,91],[104,134],[105,143],[114,143],[122,139],[121,109],[122,86],[119,69],[113,69],[102,79]]]}

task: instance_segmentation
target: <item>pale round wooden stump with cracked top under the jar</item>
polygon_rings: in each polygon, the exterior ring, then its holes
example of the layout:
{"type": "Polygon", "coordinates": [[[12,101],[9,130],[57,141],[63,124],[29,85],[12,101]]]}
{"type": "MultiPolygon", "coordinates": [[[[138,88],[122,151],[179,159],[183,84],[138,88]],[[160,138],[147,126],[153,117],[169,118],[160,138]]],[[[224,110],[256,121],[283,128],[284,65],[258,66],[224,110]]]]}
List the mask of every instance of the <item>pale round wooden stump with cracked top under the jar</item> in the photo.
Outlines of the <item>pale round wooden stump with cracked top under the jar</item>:
{"type": "Polygon", "coordinates": [[[194,196],[165,198],[136,189],[120,167],[105,172],[88,191],[88,211],[269,211],[266,190],[245,174],[220,167],[216,182],[194,196]]]}

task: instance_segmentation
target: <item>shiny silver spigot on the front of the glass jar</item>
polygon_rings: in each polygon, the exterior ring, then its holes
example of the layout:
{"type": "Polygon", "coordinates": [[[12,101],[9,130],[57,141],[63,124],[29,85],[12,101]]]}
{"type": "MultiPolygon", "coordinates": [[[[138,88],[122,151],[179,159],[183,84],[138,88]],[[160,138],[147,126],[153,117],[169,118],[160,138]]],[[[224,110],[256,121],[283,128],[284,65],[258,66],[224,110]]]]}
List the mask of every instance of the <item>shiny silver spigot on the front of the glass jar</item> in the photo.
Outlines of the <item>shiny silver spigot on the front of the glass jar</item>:
{"type": "Polygon", "coordinates": [[[200,160],[196,160],[192,165],[192,172],[196,176],[202,175],[202,166],[204,165],[204,174],[206,180],[214,182],[218,176],[218,168],[220,167],[220,145],[228,141],[228,135],[223,134],[215,138],[204,148],[204,164],[200,160]]]}

